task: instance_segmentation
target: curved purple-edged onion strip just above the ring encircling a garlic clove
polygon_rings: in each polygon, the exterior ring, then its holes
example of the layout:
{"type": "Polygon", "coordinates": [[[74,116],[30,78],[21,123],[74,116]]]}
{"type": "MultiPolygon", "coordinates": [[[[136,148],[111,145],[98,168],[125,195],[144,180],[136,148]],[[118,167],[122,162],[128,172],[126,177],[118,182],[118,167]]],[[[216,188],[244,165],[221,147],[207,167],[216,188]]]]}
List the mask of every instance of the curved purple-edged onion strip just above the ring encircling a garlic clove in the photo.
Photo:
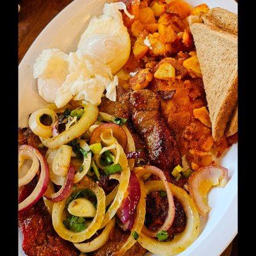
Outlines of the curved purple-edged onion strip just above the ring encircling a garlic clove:
{"type": "Polygon", "coordinates": [[[67,177],[61,189],[58,192],[52,194],[51,196],[45,195],[45,198],[47,198],[52,202],[60,202],[65,198],[67,198],[68,196],[70,196],[70,194],[72,193],[72,186],[74,184],[74,177],[75,177],[75,168],[73,164],[70,164],[67,177]]]}

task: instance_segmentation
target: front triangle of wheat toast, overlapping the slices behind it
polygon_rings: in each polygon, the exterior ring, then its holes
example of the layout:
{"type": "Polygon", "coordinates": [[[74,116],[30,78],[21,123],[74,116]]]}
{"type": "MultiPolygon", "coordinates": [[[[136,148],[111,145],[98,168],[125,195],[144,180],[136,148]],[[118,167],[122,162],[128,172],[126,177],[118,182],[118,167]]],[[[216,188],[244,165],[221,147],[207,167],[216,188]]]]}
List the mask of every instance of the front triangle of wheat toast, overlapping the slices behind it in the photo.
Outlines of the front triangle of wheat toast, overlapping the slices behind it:
{"type": "Polygon", "coordinates": [[[189,16],[212,122],[220,140],[237,105],[237,36],[189,16]]]}

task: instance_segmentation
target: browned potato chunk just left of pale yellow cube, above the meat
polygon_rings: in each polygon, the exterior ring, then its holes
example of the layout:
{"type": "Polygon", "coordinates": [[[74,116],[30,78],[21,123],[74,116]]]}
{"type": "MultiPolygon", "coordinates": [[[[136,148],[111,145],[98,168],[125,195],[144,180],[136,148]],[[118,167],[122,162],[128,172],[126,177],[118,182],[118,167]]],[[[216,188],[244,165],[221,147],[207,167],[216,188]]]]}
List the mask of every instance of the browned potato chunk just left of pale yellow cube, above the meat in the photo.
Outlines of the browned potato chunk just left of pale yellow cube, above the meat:
{"type": "Polygon", "coordinates": [[[149,68],[142,69],[132,77],[129,81],[129,85],[132,90],[141,90],[148,86],[148,83],[152,81],[153,76],[149,71],[149,68]]]}

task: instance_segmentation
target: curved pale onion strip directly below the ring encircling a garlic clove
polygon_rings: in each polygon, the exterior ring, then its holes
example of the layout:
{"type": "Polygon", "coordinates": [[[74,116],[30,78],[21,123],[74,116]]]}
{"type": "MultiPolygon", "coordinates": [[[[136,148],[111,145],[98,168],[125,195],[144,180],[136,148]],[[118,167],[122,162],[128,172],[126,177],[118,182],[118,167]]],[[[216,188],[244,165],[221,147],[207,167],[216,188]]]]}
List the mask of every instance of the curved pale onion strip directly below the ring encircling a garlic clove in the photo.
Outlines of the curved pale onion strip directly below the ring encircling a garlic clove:
{"type": "Polygon", "coordinates": [[[115,227],[115,218],[113,218],[109,223],[106,225],[102,233],[93,239],[90,242],[87,243],[74,243],[74,246],[80,251],[80,252],[93,252],[95,250],[98,250],[101,246],[103,246],[109,238],[109,233],[111,230],[115,227]]]}

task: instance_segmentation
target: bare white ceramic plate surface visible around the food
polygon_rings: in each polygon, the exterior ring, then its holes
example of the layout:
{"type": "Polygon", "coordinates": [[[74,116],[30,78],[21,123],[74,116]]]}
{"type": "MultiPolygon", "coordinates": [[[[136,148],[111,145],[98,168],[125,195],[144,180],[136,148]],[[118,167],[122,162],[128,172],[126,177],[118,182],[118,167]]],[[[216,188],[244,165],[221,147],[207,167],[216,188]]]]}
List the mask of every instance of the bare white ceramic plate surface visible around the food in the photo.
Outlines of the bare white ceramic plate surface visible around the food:
{"type": "MultiPolygon", "coordinates": [[[[207,3],[237,13],[234,0],[187,0],[193,6],[207,3]]],[[[102,14],[106,0],[75,0],[60,12],[40,33],[19,65],[19,126],[28,125],[29,113],[42,107],[45,101],[38,95],[33,65],[43,49],[57,47],[64,52],[76,51],[81,33],[93,15],[102,14]]],[[[229,170],[225,188],[212,189],[209,205],[212,210],[202,221],[201,234],[195,243],[179,256],[219,256],[237,234],[237,145],[233,145],[218,163],[229,170]]],[[[19,255],[22,251],[19,230],[19,255]]]]}

